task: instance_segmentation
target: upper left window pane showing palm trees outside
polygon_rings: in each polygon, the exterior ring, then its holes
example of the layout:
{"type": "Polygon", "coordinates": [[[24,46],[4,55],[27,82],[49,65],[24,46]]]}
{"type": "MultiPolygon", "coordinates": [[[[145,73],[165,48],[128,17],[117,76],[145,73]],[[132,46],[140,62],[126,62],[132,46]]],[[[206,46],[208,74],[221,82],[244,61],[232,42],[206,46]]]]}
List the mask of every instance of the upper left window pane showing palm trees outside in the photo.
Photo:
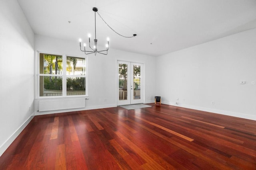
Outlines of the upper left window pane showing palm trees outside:
{"type": "Polygon", "coordinates": [[[62,56],[40,53],[40,74],[62,74],[62,56]]]}

